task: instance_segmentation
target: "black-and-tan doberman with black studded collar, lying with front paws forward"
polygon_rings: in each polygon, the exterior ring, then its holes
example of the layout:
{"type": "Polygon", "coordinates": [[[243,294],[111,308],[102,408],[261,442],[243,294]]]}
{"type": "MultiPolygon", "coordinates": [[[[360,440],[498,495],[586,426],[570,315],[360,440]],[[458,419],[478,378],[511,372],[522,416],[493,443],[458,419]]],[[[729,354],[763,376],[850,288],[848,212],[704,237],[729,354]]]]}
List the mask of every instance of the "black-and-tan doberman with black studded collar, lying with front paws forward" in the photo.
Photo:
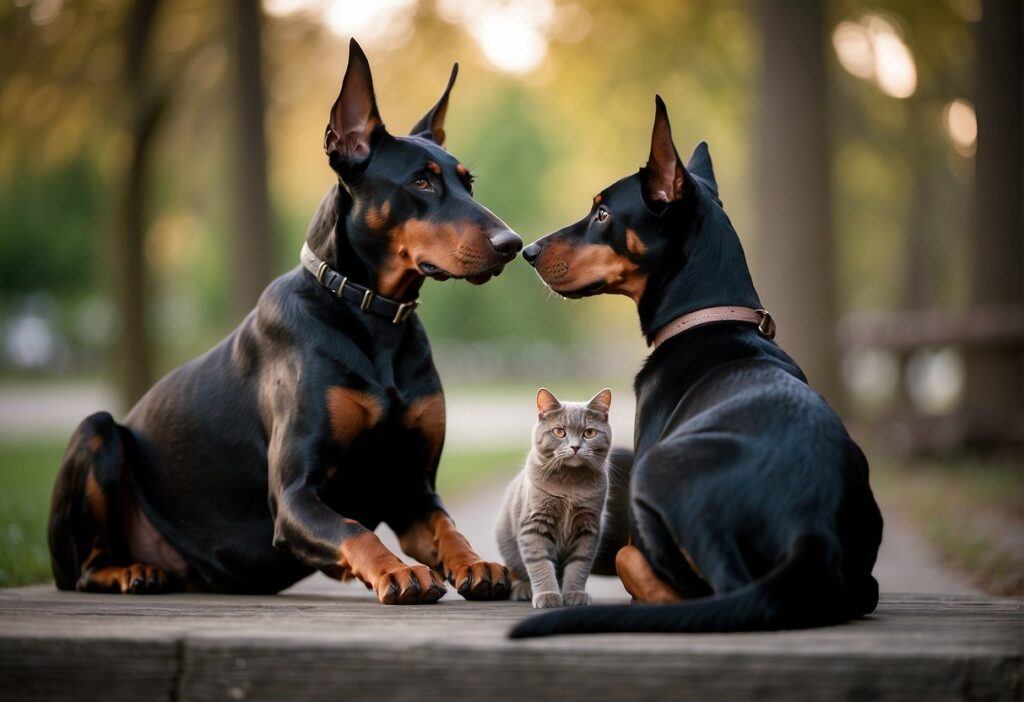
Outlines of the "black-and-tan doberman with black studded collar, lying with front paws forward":
{"type": "Polygon", "coordinates": [[[467,599],[508,597],[508,571],[434,491],[444,397],[413,313],[425,277],[482,283],[521,248],[441,147],[457,69],[412,134],[392,136],[352,41],[325,137],[338,185],[304,267],[123,423],[79,426],[50,515],[59,588],[276,593],[318,569],[416,604],[443,596],[436,570],[467,599]],[[423,565],[380,542],[381,522],[423,565]]]}

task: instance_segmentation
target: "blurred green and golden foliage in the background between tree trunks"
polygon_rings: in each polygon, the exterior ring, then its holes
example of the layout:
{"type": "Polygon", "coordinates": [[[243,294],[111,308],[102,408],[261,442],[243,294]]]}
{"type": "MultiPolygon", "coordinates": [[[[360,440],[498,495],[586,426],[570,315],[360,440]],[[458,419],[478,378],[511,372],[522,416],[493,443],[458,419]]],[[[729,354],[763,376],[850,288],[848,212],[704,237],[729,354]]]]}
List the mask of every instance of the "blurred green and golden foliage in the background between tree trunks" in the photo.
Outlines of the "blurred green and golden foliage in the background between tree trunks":
{"type": "MultiPolygon", "coordinates": [[[[459,60],[447,146],[478,176],[479,200],[526,242],[578,219],[594,192],[645,161],[657,92],[684,157],[698,140],[710,141],[723,199],[749,256],[770,246],[757,237],[757,183],[750,176],[759,48],[749,2],[555,0],[556,9],[572,10],[572,21],[545,30],[547,55],[524,75],[488,62],[472,28],[443,11],[452,5],[413,1],[402,15],[412,17],[409,31],[359,37],[381,112],[392,131],[403,133],[459,60]]],[[[906,262],[918,255],[906,249],[909,224],[927,227],[934,243],[928,272],[936,277],[936,302],[963,299],[970,159],[951,150],[941,119],[948,100],[968,93],[970,6],[970,0],[831,2],[836,23],[865,12],[891,19],[913,52],[920,84],[915,95],[900,100],[834,62],[844,309],[901,305],[906,262]],[[910,222],[922,179],[934,192],[934,207],[910,222]]],[[[8,307],[40,289],[65,305],[83,293],[111,295],[106,242],[127,147],[119,91],[128,7],[127,0],[0,6],[0,295],[8,307]]],[[[321,139],[347,38],[323,19],[273,12],[265,21],[273,250],[282,272],[296,263],[306,222],[333,179],[321,139]]],[[[404,27],[396,18],[389,23],[404,27]]],[[[200,0],[167,0],[157,19],[154,70],[175,85],[159,137],[145,247],[155,294],[151,330],[162,369],[208,348],[239,321],[226,272],[246,265],[245,252],[231,251],[228,235],[230,29],[223,3],[200,0]]],[[[517,263],[482,288],[428,282],[422,316],[439,343],[574,340],[640,347],[625,299],[577,305],[550,298],[517,263]]]]}

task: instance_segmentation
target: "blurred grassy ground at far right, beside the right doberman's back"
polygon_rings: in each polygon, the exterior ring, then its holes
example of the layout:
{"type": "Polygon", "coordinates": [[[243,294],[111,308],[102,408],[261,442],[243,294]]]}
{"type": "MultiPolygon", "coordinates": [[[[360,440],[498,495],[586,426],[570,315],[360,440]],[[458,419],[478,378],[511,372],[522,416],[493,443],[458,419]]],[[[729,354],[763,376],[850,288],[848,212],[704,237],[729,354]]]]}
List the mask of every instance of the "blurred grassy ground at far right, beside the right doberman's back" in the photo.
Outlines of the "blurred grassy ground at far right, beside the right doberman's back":
{"type": "Polygon", "coordinates": [[[954,570],[990,595],[1024,595],[1024,472],[1012,462],[877,462],[885,506],[910,515],[954,570]]]}

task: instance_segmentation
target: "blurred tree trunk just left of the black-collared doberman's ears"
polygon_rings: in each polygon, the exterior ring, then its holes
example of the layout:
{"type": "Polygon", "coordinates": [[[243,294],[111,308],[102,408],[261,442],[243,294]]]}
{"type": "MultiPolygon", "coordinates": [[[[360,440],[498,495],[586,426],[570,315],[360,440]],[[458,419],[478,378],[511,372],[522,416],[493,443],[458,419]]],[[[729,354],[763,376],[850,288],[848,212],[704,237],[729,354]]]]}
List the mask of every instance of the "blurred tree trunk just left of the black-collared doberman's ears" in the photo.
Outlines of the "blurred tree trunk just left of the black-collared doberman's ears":
{"type": "Polygon", "coordinates": [[[237,255],[233,304],[246,314],[256,304],[271,276],[270,205],[266,180],[266,136],[260,37],[262,10],[258,0],[232,0],[234,27],[236,158],[229,176],[234,181],[237,255]]]}

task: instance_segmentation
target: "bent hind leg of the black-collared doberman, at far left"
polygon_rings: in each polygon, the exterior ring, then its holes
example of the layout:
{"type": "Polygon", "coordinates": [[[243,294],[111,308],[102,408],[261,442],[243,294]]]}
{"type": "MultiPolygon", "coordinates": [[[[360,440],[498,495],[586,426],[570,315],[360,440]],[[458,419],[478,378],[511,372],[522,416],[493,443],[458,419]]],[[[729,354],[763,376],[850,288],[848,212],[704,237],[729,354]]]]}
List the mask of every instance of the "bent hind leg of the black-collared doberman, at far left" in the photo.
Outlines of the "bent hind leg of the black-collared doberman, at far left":
{"type": "Polygon", "coordinates": [[[106,412],[79,425],[53,487],[49,544],[60,589],[164,593],[172,579],[158,566],[135,563],[125,526],[131,495],[124,430],[106,412]]]}

